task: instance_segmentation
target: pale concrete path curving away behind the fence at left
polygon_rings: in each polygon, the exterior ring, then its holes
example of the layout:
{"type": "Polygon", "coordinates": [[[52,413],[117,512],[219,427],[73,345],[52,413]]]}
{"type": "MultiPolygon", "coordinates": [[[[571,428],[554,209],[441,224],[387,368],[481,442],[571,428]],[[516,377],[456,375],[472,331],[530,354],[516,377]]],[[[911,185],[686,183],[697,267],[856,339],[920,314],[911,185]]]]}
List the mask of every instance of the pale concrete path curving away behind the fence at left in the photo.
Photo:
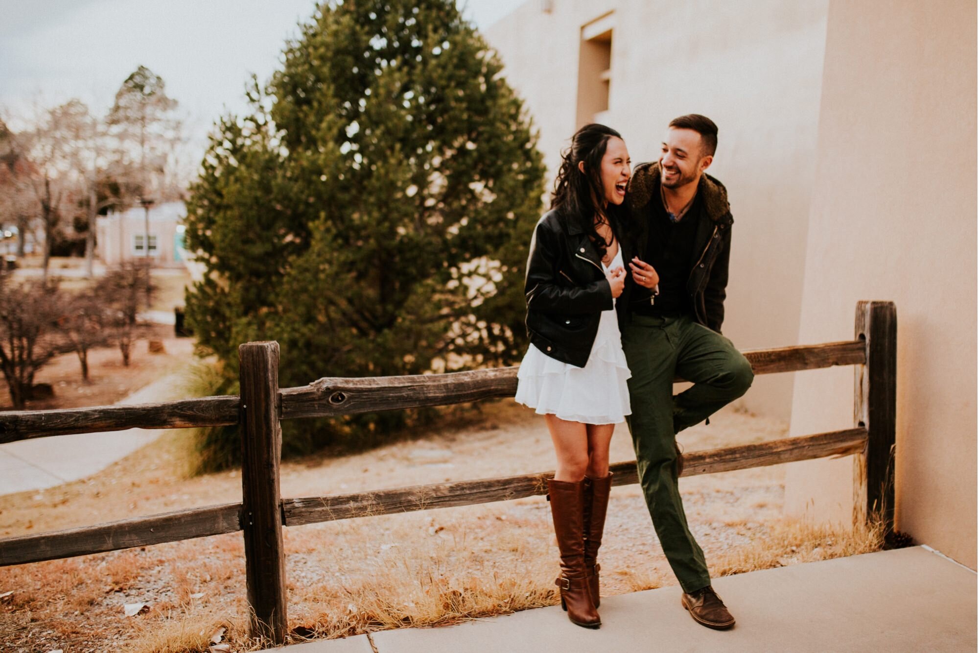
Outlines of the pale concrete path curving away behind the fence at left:
{"type": "MultiPolygon", "coordinates": [[[[117,404],[164,401],[179,376],[155,380],[117,404]]],[[[154,441],[162,433],[159,429],[130,428],[35,437],[0,444],[0,495],[44,489],[90,477],[154,441]]]]}

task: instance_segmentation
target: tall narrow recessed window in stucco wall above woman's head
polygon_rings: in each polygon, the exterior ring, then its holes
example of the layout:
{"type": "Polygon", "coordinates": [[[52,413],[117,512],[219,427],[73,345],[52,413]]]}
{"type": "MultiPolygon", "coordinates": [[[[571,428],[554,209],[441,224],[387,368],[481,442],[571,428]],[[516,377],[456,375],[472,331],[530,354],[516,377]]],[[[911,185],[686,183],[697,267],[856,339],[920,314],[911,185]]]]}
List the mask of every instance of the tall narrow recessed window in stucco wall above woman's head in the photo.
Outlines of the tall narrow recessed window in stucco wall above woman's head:
{"type": "Polygon", "coordinates": [[[612,80],[612,31],[615,14],[582,27],[578,60],[578,126],[605,123],[612,80]]]}

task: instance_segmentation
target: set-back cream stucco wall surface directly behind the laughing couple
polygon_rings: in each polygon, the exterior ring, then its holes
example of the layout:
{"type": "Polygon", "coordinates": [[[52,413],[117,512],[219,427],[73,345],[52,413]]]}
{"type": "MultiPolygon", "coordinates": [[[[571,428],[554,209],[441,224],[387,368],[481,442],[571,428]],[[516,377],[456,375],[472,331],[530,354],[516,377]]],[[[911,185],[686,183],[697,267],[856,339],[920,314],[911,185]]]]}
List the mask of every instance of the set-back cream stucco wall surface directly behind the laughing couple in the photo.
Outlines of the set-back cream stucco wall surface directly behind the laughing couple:
{"type": "MultiPolygon", "coordinates": [[[[718,124],[710,172],[735,224],[723,330],[742,349],[795,344],[800,332],[827,1],[532,0],[486,34],[540,130],[551,175],[580,126],[589,25],[612,27],[608,109],[595,118],[622,132],[634,163],[658,158],[676,116],[718,124]]],[[[758,377],[742,401],[788,420],[792,380],[758,377]]]]}

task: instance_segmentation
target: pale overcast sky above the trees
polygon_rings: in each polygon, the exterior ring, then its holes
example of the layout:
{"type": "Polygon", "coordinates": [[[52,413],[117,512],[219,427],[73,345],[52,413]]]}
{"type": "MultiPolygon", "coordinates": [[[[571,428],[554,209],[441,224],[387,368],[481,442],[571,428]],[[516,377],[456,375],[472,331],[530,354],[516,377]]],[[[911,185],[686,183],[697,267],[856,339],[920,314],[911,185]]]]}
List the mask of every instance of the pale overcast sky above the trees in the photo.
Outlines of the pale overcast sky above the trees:
{"type": "MultiPolygon", "coordinates": [[[[526,0],[457,0],[478,27],[526,0]]],[[[15,126],[36,103],[77,97],[96,113],[140,65],[200,137],[225,110],[246,108],[249,75],[279,65],[314,0],[0,0],[0,116],[15,126]]]]}

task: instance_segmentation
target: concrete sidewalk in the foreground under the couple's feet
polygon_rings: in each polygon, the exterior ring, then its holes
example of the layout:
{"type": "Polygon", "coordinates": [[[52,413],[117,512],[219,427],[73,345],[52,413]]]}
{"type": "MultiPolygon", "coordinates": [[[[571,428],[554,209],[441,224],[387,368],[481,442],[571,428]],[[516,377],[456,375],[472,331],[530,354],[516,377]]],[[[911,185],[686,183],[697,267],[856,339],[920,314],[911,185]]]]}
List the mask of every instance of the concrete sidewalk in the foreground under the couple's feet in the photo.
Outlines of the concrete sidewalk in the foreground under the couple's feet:
{"type": "Polygon", "coordinates": [[[297,644],[285,653],[595,653],[596,651],[975,651],[976,574],[926,547],[717,578],[737,618],[698,626],[679,588],[602,599],[602,628],[560,607],[451,628],[401,628],[297,644]],[[373,644],[373,647],[372,647],[373,644]]]}

